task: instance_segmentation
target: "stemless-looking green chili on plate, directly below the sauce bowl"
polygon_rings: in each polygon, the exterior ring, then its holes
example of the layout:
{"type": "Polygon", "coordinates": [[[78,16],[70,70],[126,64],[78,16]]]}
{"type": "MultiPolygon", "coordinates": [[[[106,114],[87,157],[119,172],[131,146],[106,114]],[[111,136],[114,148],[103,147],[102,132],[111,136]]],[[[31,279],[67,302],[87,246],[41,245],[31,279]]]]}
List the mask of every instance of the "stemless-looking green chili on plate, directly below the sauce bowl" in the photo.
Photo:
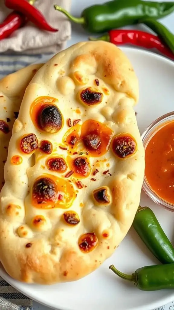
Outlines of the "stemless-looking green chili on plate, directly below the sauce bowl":
{"type": "Polygon", "coordinates": [[[133,228],[161,263],[174,263],[174,248],[150,208],[139,206],[133,228]]]}

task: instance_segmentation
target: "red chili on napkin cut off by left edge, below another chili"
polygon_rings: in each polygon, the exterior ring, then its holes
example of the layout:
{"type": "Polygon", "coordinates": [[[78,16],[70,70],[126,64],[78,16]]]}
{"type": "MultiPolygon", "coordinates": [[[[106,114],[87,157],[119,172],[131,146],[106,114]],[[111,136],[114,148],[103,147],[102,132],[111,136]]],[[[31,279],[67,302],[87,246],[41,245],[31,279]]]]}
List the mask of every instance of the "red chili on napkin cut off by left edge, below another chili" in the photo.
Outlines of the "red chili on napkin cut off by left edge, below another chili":
{"type": "Polygon", "coordinates": [[[0,24],[0,40],[11,35],[15,30],[22,27],[27,22],[27,18],[17,12],[11,12],[6,19],[0,24]]]}

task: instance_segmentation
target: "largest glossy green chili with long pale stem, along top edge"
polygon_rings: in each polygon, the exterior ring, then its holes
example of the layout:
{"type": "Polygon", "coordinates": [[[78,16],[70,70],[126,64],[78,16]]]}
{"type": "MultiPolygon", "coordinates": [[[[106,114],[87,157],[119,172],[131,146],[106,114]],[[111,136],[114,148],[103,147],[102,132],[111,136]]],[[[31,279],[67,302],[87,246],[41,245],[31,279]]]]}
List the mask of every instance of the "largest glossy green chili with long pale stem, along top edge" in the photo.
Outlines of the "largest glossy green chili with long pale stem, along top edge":
{"type": "Polygon", "coordinates": [[[97,33],[137,24],[139,20],[148,17],[164,17],[174,11],[174,2],[114,0],[87,7],[80,18],[70,15],[58,5],[54,5],[54,8],[63,12],[73,22],[82,24],[89,32],[97,33]]]}

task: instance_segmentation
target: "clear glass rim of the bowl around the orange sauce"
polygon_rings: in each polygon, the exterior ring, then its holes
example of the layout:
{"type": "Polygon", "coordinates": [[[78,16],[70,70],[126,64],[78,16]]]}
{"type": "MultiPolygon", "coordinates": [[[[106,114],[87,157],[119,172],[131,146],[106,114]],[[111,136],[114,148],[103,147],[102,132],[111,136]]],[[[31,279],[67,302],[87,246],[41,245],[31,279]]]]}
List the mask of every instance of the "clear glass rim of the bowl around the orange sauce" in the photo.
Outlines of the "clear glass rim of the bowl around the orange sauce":
{"type": "MultiPolygon", "coordinates": [[[[143,142],[144,149],[146,150],[146,146],[149,143],[150,139],[153,137],[153,135],[163,127],[166,123],[174,120],[174,111],[164,114],[161,117],[157,118],[153,123],[150,124],[146,128],[146,130],[141,135],[141,139],[143,142]]],[[[158,196],[157,193],[154,192],[153,188],[151,188],[150,184],[148,183],[146,179],[146,175],[144,175],[143,190],[147,194],[148,197],[150,197],[155,203],[162,206],[163,208],[173,211],[174,212],[174,205],[167,202],[166,200],[163,200],[161,197],[158,196]]]]}

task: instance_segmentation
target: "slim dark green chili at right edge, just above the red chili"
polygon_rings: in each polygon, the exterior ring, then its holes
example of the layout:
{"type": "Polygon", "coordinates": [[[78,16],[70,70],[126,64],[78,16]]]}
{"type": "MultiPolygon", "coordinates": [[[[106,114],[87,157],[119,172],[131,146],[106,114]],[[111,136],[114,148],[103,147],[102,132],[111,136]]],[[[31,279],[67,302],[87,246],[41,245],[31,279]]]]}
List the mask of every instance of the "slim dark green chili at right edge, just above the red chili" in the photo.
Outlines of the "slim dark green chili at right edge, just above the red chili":
{"type": "Polygon", "coordinates": [[[143,24],[158,34],[159,38],[167,44],[174,54],[174,35],[163,24],[157,20],[146,19],[141,21],[143,24]]]}

